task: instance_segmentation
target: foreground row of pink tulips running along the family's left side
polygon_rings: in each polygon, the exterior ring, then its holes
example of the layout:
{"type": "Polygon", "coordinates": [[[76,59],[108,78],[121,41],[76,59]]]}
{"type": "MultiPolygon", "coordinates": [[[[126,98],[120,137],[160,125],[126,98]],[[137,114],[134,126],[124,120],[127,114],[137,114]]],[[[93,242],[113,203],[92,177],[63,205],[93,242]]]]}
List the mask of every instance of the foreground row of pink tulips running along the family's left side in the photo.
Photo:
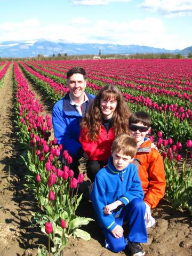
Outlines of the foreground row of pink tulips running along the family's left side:
{"type": "Polygon", "coordinates": [[[38,254],[50,255],[52,252],[52,255],[61,255],[70,236],[90,239],[90,235],[79,227],[92,219],[76,215],[82,199],[78,187],[84,174],[79,174],[77,179],[73,177],[73,170],[70,170],[72,159],[67,151],[62,150],[62,145],[57,145],[56,138],[51,139],[51,118],[42,115],[42,105],[29,90],[16,62],[14,90],[19,137],[28,149],[22,156],[29,169],[26,186],[33,191],[39,205],[33,222],[49,238],[48,249],[39,246],[38,254]]]}

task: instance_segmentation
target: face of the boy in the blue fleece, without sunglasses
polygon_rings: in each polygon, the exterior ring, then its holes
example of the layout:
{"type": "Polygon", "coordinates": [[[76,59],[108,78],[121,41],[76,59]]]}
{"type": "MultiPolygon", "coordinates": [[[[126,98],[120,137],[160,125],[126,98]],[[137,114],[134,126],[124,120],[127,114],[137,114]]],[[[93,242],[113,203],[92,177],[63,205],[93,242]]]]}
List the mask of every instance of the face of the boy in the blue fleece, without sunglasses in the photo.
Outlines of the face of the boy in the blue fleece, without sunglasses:
{"type": "Polygon", "coordinates": [[[115,168],[117,169],[117,171],[122,171],[132,161],[131,156],[123,155],[121,153],[121,151],[120,152],[117,152],[116,150],[113,151],[112,157],[113,157],[113,164],[114,164],[115,168]]]}

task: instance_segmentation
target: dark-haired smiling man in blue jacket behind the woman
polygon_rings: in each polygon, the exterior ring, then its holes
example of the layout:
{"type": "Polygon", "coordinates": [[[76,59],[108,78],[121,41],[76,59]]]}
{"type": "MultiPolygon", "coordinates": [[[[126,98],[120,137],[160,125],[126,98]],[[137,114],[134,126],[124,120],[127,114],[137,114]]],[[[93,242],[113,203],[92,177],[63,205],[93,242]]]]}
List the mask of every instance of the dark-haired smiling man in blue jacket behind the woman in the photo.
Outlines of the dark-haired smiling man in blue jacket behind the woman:
{"type": "Polygon", "coordinates": [[[67,86],[69,92],[64,98],[55,103],[52,111],[54,136],[58,144],[62,144],[63,150],[73,158],[70,169],[74,176],[79,174],[78,160],[86,157],[79,142],[80,122],[89,109],[94,95],[86,93],[86,71],[80,67],[74,67],[67,72],[67,86]]]}

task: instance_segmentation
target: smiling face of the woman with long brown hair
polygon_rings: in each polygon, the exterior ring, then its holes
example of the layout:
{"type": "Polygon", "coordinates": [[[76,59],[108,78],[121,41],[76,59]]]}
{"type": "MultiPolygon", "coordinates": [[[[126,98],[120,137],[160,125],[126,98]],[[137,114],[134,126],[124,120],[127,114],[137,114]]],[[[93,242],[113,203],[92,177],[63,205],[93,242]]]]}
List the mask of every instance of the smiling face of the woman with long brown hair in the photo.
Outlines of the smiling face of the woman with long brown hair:
{"type": "Polygon", "coordinates": [[[116,109],[117,101],[113,98],[102,98],[100,102],[100,108],[104,119],[110,119],[116,109]]]}

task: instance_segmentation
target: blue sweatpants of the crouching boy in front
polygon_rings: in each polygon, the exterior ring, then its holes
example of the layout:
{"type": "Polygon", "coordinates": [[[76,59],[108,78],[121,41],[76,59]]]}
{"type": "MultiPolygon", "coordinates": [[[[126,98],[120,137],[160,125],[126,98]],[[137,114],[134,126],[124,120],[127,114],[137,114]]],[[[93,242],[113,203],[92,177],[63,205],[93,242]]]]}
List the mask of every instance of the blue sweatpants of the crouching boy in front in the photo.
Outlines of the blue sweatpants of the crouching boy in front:
{"type": "MultiPolygon", "coordinates": [[[[115,222],[123,226],[127,221],[129,225],[129,234],[127,240],[130,242],[147,243],[147,230],[145,225],[146,205],[140,198],[135,198],[124,207],[121,215],[115,219],[115,222]]],[[[125,237],[116,238],[108,229],[102,229],[106,237],[106,248],[113,252],[120,252],[125,249],[127,244],[125,237]]]]}

